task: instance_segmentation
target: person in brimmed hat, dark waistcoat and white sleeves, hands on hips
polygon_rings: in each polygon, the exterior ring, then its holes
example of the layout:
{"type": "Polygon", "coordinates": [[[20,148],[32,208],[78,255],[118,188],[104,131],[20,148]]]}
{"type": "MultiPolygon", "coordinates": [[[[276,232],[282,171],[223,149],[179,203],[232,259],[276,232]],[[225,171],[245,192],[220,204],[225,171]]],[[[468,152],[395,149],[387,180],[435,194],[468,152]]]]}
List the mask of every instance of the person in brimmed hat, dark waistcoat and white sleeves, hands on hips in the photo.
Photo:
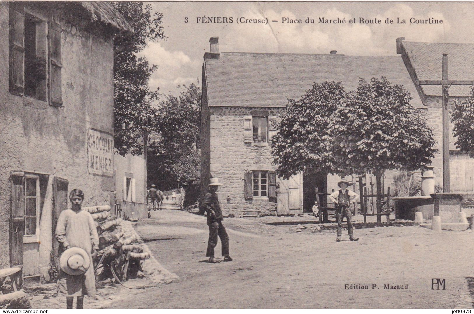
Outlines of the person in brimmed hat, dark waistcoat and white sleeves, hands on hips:
{"type": "Polygon", "coordinates": [[[356,193],[347,190],[347,187],[352,185],[346,180],[339,181],[337,186],[341,189],[339,191],[334,192],[333,194],[329,195],[329,199],[334,202],[337,206],[336,217],[337,217],[337,242],[341,241],[342,235],[342,220],[346,217],[347,220],[347,231],[349,233],[349,240],[357,241],[359,238],[354,237],[354,229],[352,228],[351,222],[351,215],[352,212],[349,208],[350,203],[354,203],[356,206],[356,202],[359,199],[359,195],[356,193]]]}

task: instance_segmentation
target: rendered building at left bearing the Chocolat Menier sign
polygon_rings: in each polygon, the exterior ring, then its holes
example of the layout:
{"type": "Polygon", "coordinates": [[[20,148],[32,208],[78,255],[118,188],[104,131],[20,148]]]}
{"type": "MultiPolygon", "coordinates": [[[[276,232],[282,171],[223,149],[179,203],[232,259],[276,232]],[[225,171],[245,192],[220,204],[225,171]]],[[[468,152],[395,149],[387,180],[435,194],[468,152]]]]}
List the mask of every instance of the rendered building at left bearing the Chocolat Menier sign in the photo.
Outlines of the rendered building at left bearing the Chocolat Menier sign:
{"type": "Polygon", "coordinates": [[[0,3],[0,268],[48,277],[71,189],[114,203],[113,38],[106,2],[0,3]]]}

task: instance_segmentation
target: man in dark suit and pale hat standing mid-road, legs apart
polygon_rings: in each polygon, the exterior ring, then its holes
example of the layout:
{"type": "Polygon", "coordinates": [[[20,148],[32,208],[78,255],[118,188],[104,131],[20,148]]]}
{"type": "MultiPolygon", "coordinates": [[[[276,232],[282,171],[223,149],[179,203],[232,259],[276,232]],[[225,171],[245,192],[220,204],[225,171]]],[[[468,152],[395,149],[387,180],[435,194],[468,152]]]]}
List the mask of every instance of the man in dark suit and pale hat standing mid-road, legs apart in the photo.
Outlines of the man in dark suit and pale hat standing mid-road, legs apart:
{"type": "Polygon", "coordinates": [[[220,238],[222,245],[222,256],[225,262],[229,262],[232,259],[229,256],[229,236],[227,235],[226,228],[222,225],[222,211],[220,210],[219,199],[216,191],[221,185],[218,178],[211,178],[209,186],[209,192],[204,196],[201,207],[207,212],[207,224],[209,226],[209,241],[206,256],[209,257],[210,263],[219,263],[220,260],[214,257],[214,248],[217,245],[217,237],[220,238]]]}

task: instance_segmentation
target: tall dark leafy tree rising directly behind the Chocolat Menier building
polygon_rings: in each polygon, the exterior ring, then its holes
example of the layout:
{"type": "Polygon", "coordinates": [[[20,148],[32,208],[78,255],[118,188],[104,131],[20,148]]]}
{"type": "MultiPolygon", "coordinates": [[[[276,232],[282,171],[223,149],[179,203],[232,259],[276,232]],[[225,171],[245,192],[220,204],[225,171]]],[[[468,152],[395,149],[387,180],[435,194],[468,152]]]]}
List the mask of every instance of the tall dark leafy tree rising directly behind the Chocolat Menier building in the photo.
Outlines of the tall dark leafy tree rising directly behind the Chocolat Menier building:
{"type": "Polygon", "coordinates": [[[112,3],[133,28],[132,33],[120,33],[114,39],[115,148],[122,156],[144,154],[146,158],[148,136],[157,128],[158,114],[152,103],[158,92],[148,86],[157,66],[137,53],[148,41],[165,38],[163,15],[152,13],[152,6],[143,2],[112,3]]]}

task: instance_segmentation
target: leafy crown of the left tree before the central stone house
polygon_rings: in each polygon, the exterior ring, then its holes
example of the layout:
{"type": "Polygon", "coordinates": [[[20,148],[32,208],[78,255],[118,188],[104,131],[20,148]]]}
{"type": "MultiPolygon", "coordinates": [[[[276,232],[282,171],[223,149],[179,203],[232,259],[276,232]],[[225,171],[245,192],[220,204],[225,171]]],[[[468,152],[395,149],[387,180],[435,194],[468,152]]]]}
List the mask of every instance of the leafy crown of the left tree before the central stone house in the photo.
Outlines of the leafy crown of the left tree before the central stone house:
{"type": "Polygon", "coordinates": [[[273,163],[283,178],[304,171],[330,172],[330,150],[323,144],[331,115],[348,101],[341,83],[314,83],[298,101],[289,99],[272,139],[273,163]]]}

